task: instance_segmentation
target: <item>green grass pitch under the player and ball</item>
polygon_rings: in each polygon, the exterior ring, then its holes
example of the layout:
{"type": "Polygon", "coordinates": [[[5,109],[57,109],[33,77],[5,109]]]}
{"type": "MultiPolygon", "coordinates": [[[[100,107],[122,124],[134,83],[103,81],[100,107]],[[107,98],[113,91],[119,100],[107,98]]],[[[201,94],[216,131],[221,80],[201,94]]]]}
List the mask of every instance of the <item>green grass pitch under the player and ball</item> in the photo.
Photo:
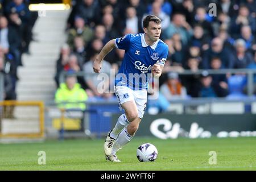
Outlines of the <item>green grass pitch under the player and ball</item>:
{"type": "Polygon", "coordinates": [[[0,170],[256,170],[256,139],[134,139],[117,155],[121,163],[106,162],[104,139],[0,144],[0,170]],[[155,162],[141,163],[137,147],[152,143],[158,148],[155,162]],[[38,152],[46,152],[46,165],[38,164],[38,152]],[[217,164],[209,164],[216,151],[217,164]]]}

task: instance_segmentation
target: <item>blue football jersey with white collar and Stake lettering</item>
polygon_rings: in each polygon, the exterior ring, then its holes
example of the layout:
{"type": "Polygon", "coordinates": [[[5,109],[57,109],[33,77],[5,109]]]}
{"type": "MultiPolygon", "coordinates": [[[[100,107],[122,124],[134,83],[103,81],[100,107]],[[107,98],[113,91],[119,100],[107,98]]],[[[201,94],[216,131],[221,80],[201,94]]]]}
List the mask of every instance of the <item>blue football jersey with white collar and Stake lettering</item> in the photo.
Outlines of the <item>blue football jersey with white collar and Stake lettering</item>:
{"type": "Polygon", "coordinates": [[[133,90],[147,89],[151,79],[151,68],[165,64],[168,46],[158,39],[148,46],[144,34],[127,34],[115,39],[115,47],[125,49],[121,67],[115,76],[115,86],[127,86],[133,90]]]}

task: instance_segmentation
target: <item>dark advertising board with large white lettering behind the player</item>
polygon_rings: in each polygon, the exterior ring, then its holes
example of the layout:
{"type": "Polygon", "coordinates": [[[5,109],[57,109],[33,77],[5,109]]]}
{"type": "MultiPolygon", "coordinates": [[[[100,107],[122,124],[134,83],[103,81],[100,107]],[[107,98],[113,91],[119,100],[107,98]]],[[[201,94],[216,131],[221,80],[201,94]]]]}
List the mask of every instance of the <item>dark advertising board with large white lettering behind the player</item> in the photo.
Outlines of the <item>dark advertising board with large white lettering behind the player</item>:
{"type": "MultiPolygon", "coordinates": [[[[113,114],[114,127],[119,114],[113,114]]],[[[144,114],[137,136],[160,139],[256,137],[255,114],[144,114]]]]}

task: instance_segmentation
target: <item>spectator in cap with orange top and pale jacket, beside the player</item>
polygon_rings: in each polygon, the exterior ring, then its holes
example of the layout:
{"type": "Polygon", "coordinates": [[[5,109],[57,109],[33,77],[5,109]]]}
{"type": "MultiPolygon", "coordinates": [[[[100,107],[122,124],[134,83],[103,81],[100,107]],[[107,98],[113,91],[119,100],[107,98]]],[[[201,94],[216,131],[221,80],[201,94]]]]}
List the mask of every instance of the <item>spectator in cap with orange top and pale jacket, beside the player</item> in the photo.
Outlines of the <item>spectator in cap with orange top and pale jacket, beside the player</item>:
{"type": "Polygon", "coordinates": [[[187,98],[187,90],[181,85],[179,75],[176,72],[168,73],[168,80],[160,86],[160,92],[168,101],[187,98]]]}

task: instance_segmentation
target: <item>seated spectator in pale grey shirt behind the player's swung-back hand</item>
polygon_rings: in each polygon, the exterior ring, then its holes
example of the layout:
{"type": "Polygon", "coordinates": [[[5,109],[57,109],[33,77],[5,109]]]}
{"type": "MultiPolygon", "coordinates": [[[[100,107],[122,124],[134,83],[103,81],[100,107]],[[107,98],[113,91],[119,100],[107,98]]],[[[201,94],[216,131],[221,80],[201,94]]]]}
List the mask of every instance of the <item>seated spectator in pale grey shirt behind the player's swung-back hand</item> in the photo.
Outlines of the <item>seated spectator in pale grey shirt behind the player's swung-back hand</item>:
{"type": "Polygon", "coordinates": [[[89,86],[89,89],[92,90],[93,96],[96,99],[100,98],[111,98],[113,97],[113,94],[107,93],[109,91],[110,86],[110,71],[111,71],[111,64],[108,63],[108,61],[103,60],[102,61],[102,68],[101,72],[108,75],[108,79],[106,80],[98,80],[97,73],[94,73],[91,69],[93,66],[93,61],[97,57],[98,53],[93,52],[90,61],[84,64],[83,70],[84,70],[84,79],[86,81],[86,84],[89,86]],[[102,86],[104,85],[104,88],[102,89],[102,86]],[[99,90],[100,89],[100,90],[99,90]]]}

